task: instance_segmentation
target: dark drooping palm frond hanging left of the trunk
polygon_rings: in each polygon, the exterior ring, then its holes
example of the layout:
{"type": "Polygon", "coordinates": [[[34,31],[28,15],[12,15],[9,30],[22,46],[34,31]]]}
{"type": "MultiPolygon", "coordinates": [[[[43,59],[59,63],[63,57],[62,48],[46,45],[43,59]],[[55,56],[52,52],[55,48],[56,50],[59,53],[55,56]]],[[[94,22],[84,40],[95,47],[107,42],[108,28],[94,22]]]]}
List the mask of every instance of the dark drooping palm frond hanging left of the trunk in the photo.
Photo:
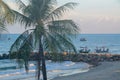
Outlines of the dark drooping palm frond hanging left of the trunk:
{"type": "Polygon", "coordinates": [[[34,49],[32,44],[32,31],[33,30],[27,30],[21,34],[10,48],[10,58],[17,59],[19,66],[24,62],[27,72],[29,70],[29,57],[31,51],[34,49]]]}

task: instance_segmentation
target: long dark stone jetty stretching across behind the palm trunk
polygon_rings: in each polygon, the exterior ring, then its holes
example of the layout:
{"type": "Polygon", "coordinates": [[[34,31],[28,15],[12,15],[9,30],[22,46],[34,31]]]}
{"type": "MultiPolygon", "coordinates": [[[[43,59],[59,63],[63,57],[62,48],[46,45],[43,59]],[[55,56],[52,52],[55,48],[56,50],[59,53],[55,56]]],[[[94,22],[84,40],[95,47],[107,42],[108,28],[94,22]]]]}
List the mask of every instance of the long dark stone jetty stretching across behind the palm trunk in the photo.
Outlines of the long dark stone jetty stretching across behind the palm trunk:
{"type": "MultiPolygon", "coordinates": [[[[120,61],[120,54],[110,54],[110,53],[80,53],[80,54],[56,54],[52,55],[49,53],[45,54],[46,60],[52,61],[73,61],[73,62],[86,62],[94,66],[99,65],[99,62],[103,61],[120,61]]],[[[1,59],[9,59],[9,54],[0,55],[1,59]]],[[[35,60],[35,56],[31,55],[30,60],[35,60]]]]}

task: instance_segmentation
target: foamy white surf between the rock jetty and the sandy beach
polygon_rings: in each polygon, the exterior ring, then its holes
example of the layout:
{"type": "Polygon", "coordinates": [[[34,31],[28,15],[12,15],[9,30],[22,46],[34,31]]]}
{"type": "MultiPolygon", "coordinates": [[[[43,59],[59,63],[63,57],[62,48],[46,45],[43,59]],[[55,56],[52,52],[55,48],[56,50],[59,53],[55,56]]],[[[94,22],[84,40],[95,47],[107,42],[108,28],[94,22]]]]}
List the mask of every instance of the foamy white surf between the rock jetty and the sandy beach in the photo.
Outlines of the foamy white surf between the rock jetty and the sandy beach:
{"type": "MultiPolygon", "coordinates": [[[[71,61],[65,61],[62,63],[46,61],[46,66],[48,79],[53,79],[57,76],[67,76],[88,71],[88,64],[75,63],[71,61]]],[[[34,62],[31,62],[28,74],[26,74],[24,68],[4,70],[2,72],[0,71],[0,80],[35,80],[35,69],[36,67],[34,62]]]]}

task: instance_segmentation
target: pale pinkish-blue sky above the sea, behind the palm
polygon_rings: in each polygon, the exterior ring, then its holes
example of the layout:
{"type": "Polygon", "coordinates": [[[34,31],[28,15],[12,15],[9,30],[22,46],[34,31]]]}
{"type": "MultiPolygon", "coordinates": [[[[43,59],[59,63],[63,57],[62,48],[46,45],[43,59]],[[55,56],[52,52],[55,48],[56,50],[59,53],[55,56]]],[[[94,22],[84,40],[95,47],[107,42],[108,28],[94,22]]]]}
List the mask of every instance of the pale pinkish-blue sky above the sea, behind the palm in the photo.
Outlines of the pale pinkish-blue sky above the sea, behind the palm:
{"type": "MultiPolygon", "coordinates": [[[[16,9],[14,2],[8,4],[16,9]]],[[[24,1],[24,0],[22,0],[24,1]]],[[[26,1],[26,0],[25,0],[26,1]]],[[[58,0],[58,5],[77,2],[62,19],[72,19],[83,34],[120,34],[120,0],[58,0]]],[[[25,29],[18,23],[7,25],[9,33],[22,33],[25,29]]]]}

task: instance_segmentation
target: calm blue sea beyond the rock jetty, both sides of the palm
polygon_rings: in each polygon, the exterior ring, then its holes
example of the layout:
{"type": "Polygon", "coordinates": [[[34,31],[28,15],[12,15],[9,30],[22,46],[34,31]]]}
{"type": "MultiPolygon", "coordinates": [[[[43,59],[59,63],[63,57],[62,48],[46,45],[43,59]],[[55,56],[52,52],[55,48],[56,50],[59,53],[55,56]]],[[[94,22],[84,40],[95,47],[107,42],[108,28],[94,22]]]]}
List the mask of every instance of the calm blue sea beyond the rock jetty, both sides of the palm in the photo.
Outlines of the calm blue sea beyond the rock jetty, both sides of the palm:
{"type": "MultiPolygon", "coordinates": [[[[8,53],[10,46],[14,43],[19,34],[2,34],[0,36],[0,54],[8,53]]],[[[87,47],[95,52],[96,47],[109,48],[110,53],[120,53],[120,34],[78,34],[72,39],[77,50],[80,47],[87,47]],[[86,41],[80,41],[85,38],[86,41]]]]}

